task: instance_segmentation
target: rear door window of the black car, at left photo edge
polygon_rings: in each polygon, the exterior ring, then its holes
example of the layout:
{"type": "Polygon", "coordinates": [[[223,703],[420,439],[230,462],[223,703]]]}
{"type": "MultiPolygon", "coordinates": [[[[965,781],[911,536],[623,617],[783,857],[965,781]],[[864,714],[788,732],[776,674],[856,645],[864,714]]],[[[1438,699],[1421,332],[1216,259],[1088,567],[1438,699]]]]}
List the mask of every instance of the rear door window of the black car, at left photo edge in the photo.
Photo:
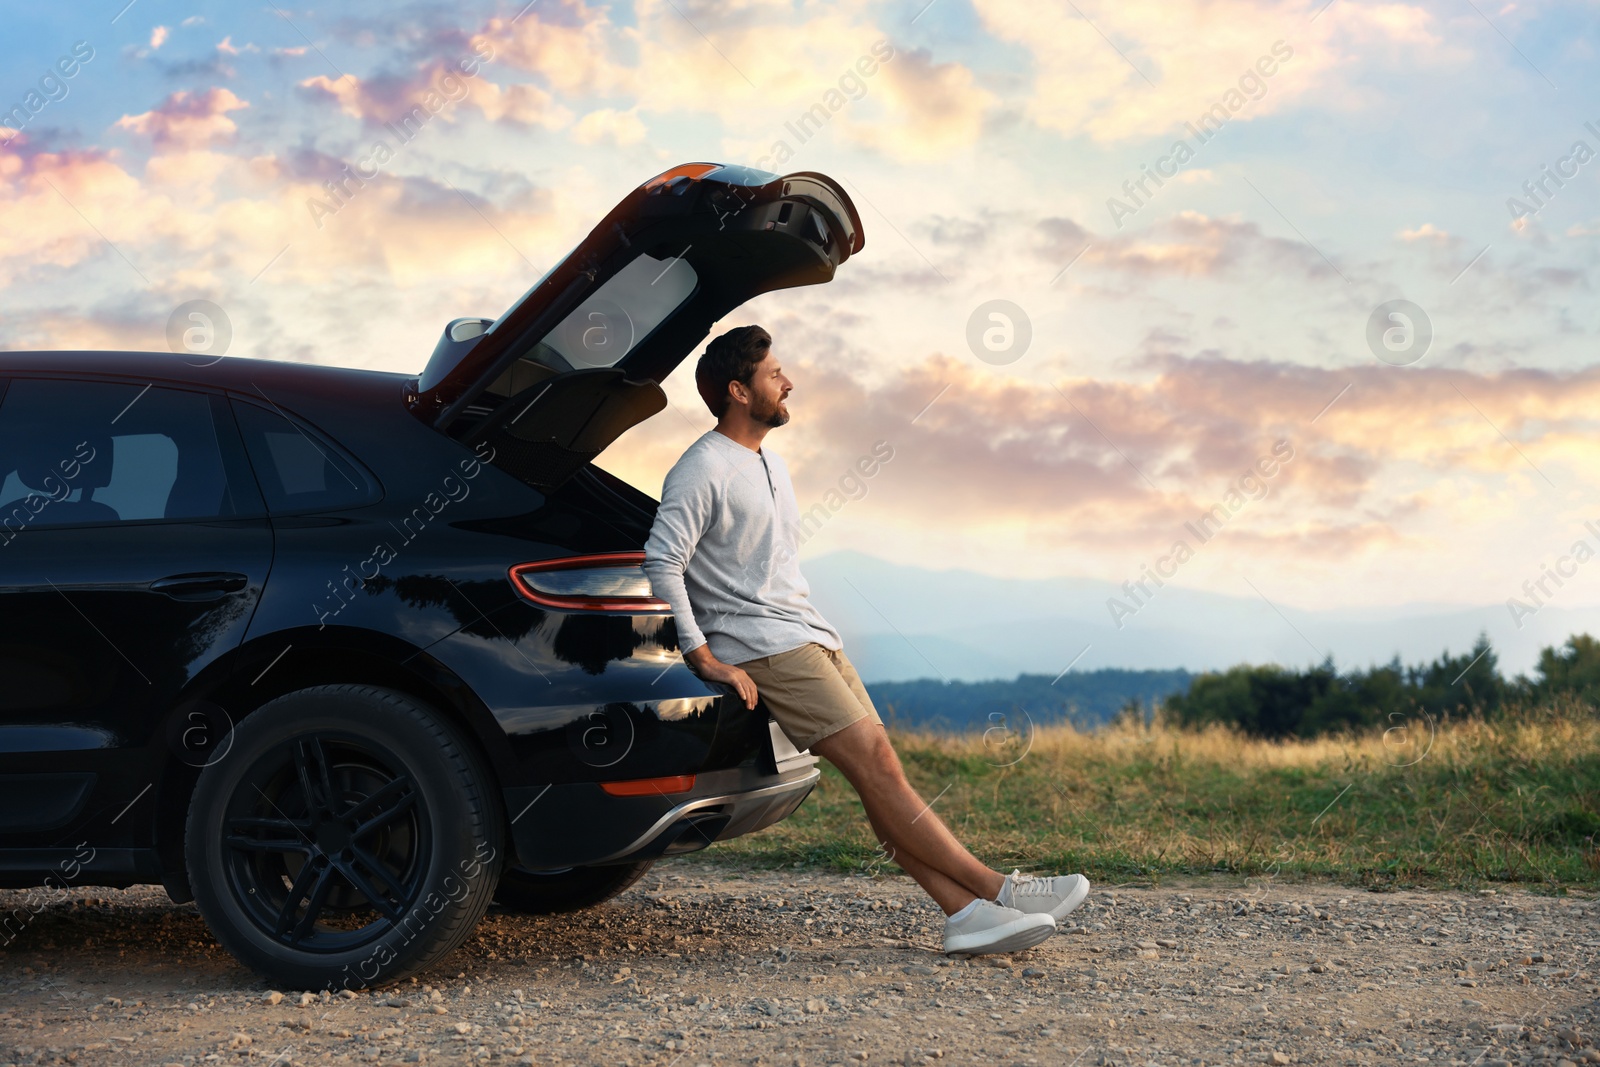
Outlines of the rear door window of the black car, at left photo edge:
{"type": "Polygon", "coordinates": [[[211,398],[19,378],[0,406],[0,526],[238,515],[211,398]]]}

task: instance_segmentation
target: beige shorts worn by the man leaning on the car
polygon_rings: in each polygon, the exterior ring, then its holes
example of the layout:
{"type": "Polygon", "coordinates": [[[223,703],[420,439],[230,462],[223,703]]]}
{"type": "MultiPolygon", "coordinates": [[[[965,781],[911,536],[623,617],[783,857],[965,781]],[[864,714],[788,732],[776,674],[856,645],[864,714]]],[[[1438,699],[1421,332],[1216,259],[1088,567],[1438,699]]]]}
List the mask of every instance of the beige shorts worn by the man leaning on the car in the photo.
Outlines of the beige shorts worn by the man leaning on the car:
{"type": "Polygon", "coordinates": [[[750,659],[739,667],[750,675],[766,710],[797,749],[810,749],[862,718],[883,723],[842,651],[811,643],[750,659]]]}

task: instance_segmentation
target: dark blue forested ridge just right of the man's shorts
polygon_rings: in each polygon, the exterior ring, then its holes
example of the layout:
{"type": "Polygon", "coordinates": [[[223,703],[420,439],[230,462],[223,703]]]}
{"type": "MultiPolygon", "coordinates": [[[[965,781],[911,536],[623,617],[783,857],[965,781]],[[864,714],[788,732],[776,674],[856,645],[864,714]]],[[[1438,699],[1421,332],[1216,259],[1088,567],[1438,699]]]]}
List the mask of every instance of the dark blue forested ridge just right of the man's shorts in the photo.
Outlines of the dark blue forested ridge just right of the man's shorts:
{"type": "Polygon", "coordinates": [[[869,681],[867,693],[883,720],[899,726],[962,733],[1005,723],[1016,729],[1019,710],[1040,726],[1099,726],[1131,699],[1152,704],[1187,691],[1192,677],[1187,670],[1106,669],[1074,670],[1054,680],[1024,673],[1011,681],[869,681]]]}

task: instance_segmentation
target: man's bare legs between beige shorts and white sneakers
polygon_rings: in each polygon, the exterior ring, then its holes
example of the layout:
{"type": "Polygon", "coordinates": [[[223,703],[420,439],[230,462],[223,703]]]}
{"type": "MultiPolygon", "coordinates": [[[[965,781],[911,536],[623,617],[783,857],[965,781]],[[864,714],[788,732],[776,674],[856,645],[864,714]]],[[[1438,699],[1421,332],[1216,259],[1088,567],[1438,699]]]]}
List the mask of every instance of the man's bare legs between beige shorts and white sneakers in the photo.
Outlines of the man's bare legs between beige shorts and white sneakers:
{"type": "Polygon", "coordinates": [[[818,741],[811,750],[838,768],[861,795],[878,840],[944,912],[973,897],[992,901],[1005,875],[978,862],[906,781],[894,745],[878,723],[861,720],[818,741]]]}

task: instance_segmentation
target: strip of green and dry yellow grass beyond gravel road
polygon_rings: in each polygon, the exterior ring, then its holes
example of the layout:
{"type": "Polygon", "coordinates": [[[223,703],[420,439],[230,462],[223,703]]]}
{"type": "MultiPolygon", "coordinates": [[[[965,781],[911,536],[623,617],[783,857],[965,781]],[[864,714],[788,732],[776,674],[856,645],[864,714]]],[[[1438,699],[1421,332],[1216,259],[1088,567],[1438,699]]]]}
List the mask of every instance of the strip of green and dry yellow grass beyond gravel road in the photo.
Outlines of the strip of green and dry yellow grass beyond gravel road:
{"type": "MultiPolygon", "coordinates": [[[[997,869],[1106,883],[1227,872],[1600,888],[1600,718],[1589,707],[1290,742],[1160,721],[893,737],[917,790],[997,869]]],[[[827,765],[794,816],[701,856],[896,870],[827,765]]]]}

